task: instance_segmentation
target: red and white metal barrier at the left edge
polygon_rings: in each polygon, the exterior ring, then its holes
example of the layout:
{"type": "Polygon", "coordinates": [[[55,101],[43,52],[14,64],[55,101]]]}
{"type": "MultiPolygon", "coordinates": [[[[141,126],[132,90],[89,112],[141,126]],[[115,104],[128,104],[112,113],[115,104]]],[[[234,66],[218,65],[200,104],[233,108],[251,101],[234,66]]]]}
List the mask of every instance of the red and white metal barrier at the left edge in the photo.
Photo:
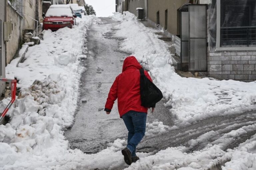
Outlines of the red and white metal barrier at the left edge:
{"type": "Polygon", "coordinates": [[[1,114],[1,117],[0,117],[0,122],[1,122],[4,118],[4,116],[6,115],[7,111],[9,110],[9,108],[12,106],[12,104],[15,101],[17,80],[0,78],[0,82],[11,83],[11,91],[12,91],[12,99],[11,99],[10,103],[6,106],[6,108],[4,109],[3,113],[1,114]]]}

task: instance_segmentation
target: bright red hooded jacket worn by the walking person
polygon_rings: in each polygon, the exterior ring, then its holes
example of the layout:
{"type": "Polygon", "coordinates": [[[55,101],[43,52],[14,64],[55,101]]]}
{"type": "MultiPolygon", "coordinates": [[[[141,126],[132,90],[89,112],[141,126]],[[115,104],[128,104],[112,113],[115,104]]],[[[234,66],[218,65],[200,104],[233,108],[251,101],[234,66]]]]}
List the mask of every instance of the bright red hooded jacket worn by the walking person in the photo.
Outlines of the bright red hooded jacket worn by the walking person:
{"type": "MultiPolygon", "coordinates": [[[[120,117],[130,110],[138,112],[148,112],[147,107],[141,106],[140,100],[140,69],[134,56],[129,56],[124,60],[123,71],[116,77],[110,88],[105,108],[112,109],[117,98],[117,105],[120,117]]],[[[149,74],[144,71],[145,76],[152,82],[149,74]]]]}

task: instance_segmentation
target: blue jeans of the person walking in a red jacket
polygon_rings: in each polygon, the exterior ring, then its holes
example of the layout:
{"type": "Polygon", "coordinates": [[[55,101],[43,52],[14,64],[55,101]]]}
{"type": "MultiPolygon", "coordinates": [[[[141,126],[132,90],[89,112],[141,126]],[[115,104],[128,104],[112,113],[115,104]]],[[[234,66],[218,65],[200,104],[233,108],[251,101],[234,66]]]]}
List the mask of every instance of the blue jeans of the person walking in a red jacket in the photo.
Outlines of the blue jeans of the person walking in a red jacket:
{"type": "Polygon", "coordinates": [[[136,146],[139,144],[146,131],[147,113],[128,111],[122,116],[128,130],[127,148],[136,156],[136,146]]]}

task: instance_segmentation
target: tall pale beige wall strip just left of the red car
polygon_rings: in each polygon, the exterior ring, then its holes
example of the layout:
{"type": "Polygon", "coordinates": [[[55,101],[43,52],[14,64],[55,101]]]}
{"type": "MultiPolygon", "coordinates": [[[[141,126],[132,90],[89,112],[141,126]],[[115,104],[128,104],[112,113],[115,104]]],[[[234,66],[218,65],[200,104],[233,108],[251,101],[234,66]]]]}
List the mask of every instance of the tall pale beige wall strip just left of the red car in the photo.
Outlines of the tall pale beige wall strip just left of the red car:
{"type": "Polygon", "coordinates": [[[36,0],[23,0],[23,14],[24,14],[23,29],[35,30],[36,22],[33,19],[36,18],[36,0]]]}

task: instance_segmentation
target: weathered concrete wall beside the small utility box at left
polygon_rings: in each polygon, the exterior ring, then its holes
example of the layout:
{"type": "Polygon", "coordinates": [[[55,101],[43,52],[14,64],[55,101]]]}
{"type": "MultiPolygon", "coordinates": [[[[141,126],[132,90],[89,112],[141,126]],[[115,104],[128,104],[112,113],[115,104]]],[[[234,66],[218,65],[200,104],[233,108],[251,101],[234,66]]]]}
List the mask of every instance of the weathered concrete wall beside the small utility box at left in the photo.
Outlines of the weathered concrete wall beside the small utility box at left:
{"type": "Polygon", "coordinates": [[[22,41],[23,18],[15,11],[15,9],[8,5],[7,7],[7,21],[13,25],[11,39],[6,43],[6,64],[9,64],[13,59],[15,53],[19,49],[22,41]]]}

